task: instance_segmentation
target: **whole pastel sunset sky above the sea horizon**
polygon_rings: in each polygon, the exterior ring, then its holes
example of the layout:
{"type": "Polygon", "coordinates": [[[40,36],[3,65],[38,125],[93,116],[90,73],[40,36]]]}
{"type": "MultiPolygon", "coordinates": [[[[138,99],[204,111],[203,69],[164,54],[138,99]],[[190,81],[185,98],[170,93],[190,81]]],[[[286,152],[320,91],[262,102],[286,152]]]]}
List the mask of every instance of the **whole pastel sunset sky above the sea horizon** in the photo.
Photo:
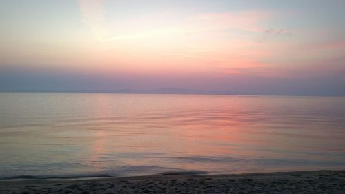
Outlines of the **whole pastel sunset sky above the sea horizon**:
{"type": "Polygon", "coordinates": [[[1,0],[0,91],[345,95],[344,8],[344,0],[1,0]]]}

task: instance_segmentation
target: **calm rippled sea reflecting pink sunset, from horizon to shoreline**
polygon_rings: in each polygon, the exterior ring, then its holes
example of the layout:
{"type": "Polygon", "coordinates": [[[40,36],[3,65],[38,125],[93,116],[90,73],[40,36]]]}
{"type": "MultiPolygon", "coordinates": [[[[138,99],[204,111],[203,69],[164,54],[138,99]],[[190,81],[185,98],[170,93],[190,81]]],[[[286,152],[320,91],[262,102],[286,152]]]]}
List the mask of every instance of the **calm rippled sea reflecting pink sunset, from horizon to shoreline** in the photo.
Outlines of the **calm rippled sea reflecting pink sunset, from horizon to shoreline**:
{"type": "Polygon", "coordinates": [[[0,177],[345,169],[345,97],[0,93],[0,177]]]}

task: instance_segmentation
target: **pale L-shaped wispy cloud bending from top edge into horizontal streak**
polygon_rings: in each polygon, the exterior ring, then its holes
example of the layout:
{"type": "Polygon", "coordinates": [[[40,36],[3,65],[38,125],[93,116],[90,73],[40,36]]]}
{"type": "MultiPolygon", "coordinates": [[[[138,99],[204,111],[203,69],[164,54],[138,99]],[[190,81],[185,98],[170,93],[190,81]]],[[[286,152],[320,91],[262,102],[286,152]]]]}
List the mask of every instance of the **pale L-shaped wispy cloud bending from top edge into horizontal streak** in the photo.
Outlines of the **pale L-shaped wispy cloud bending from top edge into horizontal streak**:
{"type": "MultiPolygon", "coordinates": [[[[262,27],[262,22],[271,16],[270,12],[265,11],[246,11],[234,13],[208,12],[189,15],[188,17],[181,19],[181,21],[175,23],[174,25],[157,27],[148,25],[147,28],[138,28],[137,30],[135,29],[135,25],[127,25],[126,22],[112,23],[116,26],[116,28],[119,28],[123,31],[127,30],[130,32],[118,33],[112,30],[112,33],[110,34],[104,22],[104,1],[106,0],[79,0],[83,21],[92,29],[93,32],[95,32],[95,34],[100,38],[101,41],[123,41],[150,38],[155,39],[157,36],[173,37],[176,35],[184,39],[189,39],[189,37],[198,35],[217,37],[217,35],[219,35],[219,33],[223,33],[224,30],[263,32],[265,29],[262,27]],[[129,27],[130,29],[126,29],[129,27]]],[[[169,16],[167,14],[166,16],[163,15],[161,17],[169,16]]],[[[145,26],[145,23],[155,23],[155,21],[152,20],[155,19],[150,18],[149,21],[138,19],[138,21],[141,21],[141,26],[145,26]]]]}

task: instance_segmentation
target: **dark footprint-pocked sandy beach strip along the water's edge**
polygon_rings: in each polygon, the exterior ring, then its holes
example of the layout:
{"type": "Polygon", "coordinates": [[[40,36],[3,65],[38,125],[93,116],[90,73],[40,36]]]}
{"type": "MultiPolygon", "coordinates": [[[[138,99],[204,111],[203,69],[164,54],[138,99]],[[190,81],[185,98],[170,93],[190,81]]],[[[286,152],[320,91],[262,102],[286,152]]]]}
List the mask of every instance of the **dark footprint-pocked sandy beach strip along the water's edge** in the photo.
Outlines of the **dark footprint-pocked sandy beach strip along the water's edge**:
{"type": "Polygon", "coordinates": [[[345,193],[345,171],[11,180],[0,193],[345,193]]]}

